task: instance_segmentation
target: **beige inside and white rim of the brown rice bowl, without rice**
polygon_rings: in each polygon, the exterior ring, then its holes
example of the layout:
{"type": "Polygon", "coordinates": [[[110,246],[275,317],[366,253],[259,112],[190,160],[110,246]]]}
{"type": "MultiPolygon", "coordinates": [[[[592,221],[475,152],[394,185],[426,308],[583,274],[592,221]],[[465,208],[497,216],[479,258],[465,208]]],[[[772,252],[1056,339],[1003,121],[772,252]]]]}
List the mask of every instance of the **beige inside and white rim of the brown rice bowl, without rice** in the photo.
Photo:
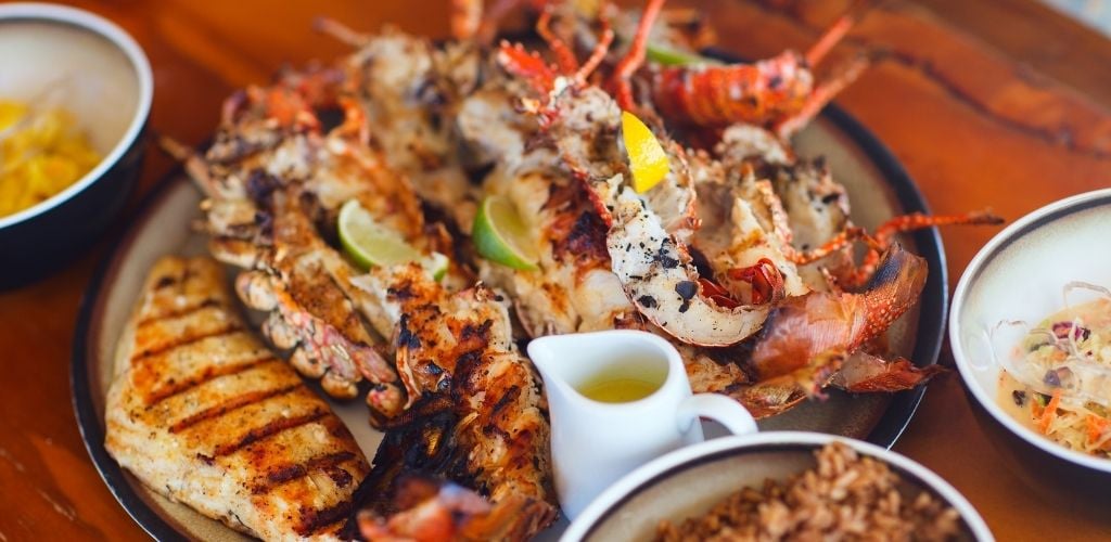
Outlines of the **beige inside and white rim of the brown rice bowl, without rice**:
{"type": "Polygon", "coordinates": [[[773,431],[723,436],[658,458],[607,489],[563,533],[561,542],[637,541],[655,538],[660,520],[699,515],[744,486],[785,479],[815,464],[813,452],[842,442],[888,464],[910,488],[932,493],[957,510],[962,539],[994,540],[961,494],[929,469],[889,450],[824,433],[773,431]]]}

